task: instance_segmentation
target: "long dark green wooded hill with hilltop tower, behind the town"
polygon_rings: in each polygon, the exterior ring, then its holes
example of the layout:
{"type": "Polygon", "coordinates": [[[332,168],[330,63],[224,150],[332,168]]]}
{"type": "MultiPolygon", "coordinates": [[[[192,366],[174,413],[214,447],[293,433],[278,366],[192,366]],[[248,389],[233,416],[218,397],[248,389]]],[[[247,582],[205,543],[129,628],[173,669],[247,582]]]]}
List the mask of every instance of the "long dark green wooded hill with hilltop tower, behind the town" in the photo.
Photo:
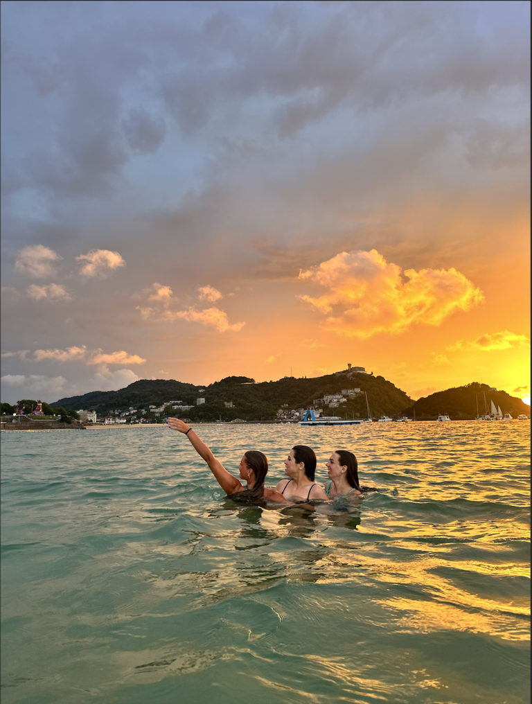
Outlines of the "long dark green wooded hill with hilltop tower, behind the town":
{"type": "MultiPolygon", "coordinates": [[[[110,410],[128,410],[148,408],[149,405],[160,406],[167,401],[179,400],[184,405],[194,406],[186,410],[186,417],[191,420],[274,420],[279,409],[289,411],[308,408],[313,401],[326,394],[336,394],[343,389],[360,389],[367,391],[372,415],[384,413],[396,415],[405,406],[412,404],[412,399],[384,377],[342,372],[341,374],[296,379],[285,377],[277,382],[255,384],[248,377],[227,377],[209,386],[195,386],[174,380],[142,379],[129,384],[119,391],[91,391],[82,396],[60,398],[53,406],[67,409],[94,409],[98,415],[107,415],[110,410]],[[205,398],[205,403],[196,406],[196,399],[205,398]],[[226,403],[232,403],[227,408],[226,403]]],[[[338,408],[328,408],[327,404],[316,404],[330,415],[342,417],[366,417],[366,396],[364,393],[351,396],[338,408]]],[[[177,411],[176,411],[177,413],[177,411]]]]}

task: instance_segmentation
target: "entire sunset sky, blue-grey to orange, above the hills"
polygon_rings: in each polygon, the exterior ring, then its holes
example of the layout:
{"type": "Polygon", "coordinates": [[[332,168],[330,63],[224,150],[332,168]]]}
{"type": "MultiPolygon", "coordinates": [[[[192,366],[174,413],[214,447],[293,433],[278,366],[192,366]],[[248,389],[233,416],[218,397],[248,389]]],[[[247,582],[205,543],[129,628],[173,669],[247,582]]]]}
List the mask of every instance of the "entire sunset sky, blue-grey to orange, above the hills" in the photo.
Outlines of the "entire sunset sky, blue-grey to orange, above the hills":
{"type": "Polygon", "coordinates": [[[1,3],[1,400],[530,402],[530,5],[1,3]]]}

